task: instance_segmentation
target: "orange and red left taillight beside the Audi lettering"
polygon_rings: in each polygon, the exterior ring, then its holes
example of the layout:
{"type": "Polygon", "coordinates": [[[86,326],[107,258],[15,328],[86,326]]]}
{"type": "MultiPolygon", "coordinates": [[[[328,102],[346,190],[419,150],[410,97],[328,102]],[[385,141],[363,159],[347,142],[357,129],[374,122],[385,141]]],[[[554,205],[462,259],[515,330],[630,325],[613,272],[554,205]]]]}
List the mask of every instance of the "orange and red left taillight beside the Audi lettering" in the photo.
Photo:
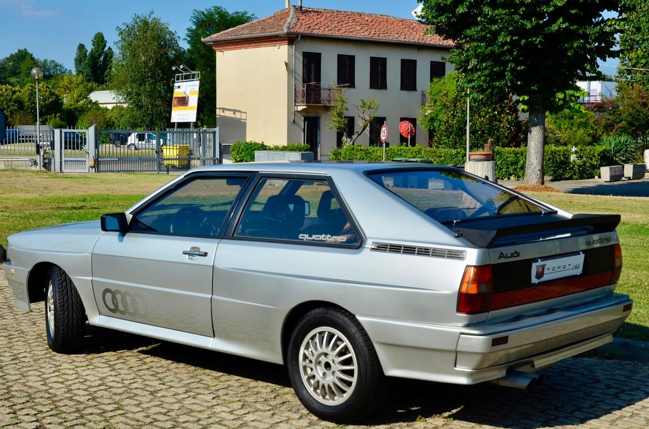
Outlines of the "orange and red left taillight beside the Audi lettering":
{"type": "Polygon", "coordinates": [[[458,313],[477,314],[489,311],[492,294],[491,265],[467,266],[459,285],[458,313]]]}

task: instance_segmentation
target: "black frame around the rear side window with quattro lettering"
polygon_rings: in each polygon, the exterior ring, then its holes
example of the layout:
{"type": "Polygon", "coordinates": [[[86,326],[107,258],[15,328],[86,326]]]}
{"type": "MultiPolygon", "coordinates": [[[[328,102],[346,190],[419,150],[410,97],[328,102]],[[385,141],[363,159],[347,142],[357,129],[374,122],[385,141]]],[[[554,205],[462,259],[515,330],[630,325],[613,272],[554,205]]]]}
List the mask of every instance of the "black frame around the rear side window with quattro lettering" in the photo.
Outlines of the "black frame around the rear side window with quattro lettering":
{"type": "Polygon", "coordinates": [[[241,200],[239,201],[239,205],[236,208],[236,211],[232,214],[230,218],[230,222],[228,223],[223,238],[227,238],[229,240],[258,241],[258,242],[279,243],[279,244],[297,244],[299,246],[319,246],[319,247],[338,248],[338,249],[360,249],[361,247],[363,247],[363,244],[365,243],[365,233],[363,233],[363,230],[358,225],[358,222],[356,222],[356,218],[352,216],[351,212],[349,211],[349,208],[347,207],[347,203],[345,203],[343,198],[341,198],[341,194],[338,191],[331,176],[329,176],[328,174],[320,175],[320,174],[313,174],[313,173],[300,174],[300,173],[281,173],[281,172],[279,173],[259,172],[257,174],[254,174],[254,176],[252,177],[249,183],[249,187],[245,192],[245,198],[243,197],[241,198],[241,200]],[[245,210],[245,207],[248,206],[248,204],[251,201],[252,195],[254,194],[254,191],[256,191],[257,187],[264,179],[302,180],[302,181],[311,180],[311,181],[326,182],[327,185],[329,186],[329,189],[331,189],[331,191],[334,193],[334,196],[337,198],[341,209],[343,209],[343,213],[345,213],[345,216],[347,216],[347,220],[349,220],[350,224],[354,228],[354,231],[356,231],[356,234],[358,235],[358,244],[350,246],[349,244],[308,242],[308,241],[298,241],[298,240],[286,240],[282,238],[241,237],[235,235],[234,231],[236,231],[236,227],[238,227],[239,222],[241,221],[241,216],[243,215],[243,211],[245,210]]]}

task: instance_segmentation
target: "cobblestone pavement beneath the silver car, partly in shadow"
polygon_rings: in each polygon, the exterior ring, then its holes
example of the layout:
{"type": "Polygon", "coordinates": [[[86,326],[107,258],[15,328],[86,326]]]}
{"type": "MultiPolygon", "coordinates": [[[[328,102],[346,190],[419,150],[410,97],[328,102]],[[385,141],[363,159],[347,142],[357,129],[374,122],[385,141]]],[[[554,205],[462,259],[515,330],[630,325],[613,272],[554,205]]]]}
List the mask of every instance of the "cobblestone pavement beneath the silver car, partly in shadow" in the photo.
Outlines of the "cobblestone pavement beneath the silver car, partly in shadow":
{"type": "MultiPolygon", "coordinates": [[[[88,327],[47,348],[44,310],[12,307],[0,270],[0,427],[336,428],[302,408],[284,367],[88,327]]],[[[649,365],[571,358],[532,391],[395,380],[380,428],[646,428],[649,365]]]]}

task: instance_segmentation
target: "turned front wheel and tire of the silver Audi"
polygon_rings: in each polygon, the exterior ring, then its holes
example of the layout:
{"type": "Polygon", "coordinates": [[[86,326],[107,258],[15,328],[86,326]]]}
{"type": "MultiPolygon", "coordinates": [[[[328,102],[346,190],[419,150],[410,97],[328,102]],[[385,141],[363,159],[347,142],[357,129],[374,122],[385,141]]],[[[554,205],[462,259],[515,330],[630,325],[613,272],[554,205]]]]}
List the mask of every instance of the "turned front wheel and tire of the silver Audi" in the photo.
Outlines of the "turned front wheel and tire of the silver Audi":
{"type": "Polygon", "coordinates": [[[45,288],[47,345],[56,353],[75,353],[83,342],[86,313],[70,277],[52,268],[45,288]]]}

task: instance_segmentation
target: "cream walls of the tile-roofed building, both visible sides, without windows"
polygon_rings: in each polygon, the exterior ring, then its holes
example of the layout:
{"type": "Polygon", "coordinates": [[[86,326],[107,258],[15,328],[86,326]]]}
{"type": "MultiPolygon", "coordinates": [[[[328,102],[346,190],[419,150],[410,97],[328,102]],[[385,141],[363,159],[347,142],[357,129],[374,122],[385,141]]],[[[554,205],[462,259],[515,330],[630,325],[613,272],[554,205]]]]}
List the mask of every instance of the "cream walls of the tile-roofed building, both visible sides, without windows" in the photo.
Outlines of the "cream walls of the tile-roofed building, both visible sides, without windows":
{"type": "MultiPolygon", "coordinates": [[[[370,41],[337,40],[302,37],[297,45],[280,45],[216,52],[216,115],[222,143],[238,140],[263,141],[269,145],[302,143],[304,117],[320,117],[321,156],[326,159],[336,147],[336,130],[327,130],[329,108],[308,106],[293,119],[293,49],[295,49],[295,77],[302,84],[302,52],[320,52],[322,55],[322,83],[337,80],[337,54],[356,56],[356,87],[350,88],[347,116],[354,116],[354,129],[360,128],[354,104],[375,95],[381,103],[376,113],[387,118],[388,141],[398,145],[398,124],[401,117],[417,118],[415,140],[417,145],[428,145],[428,132],[419,124],[421,91],[430,83],[430,62],[441,61],[448,55],[445,49],[378,43],[370,41]],[[370,89],[369,63],[371,56],[387,58],[387,89],[370,89]],[[402,91],[401,59],[417,60],[417,89],[402,91]]],[[[452,71],[451,64],[446,72],[452,71]]],[[[357,143],[369,144],[369,128],[357,143]]]]}

